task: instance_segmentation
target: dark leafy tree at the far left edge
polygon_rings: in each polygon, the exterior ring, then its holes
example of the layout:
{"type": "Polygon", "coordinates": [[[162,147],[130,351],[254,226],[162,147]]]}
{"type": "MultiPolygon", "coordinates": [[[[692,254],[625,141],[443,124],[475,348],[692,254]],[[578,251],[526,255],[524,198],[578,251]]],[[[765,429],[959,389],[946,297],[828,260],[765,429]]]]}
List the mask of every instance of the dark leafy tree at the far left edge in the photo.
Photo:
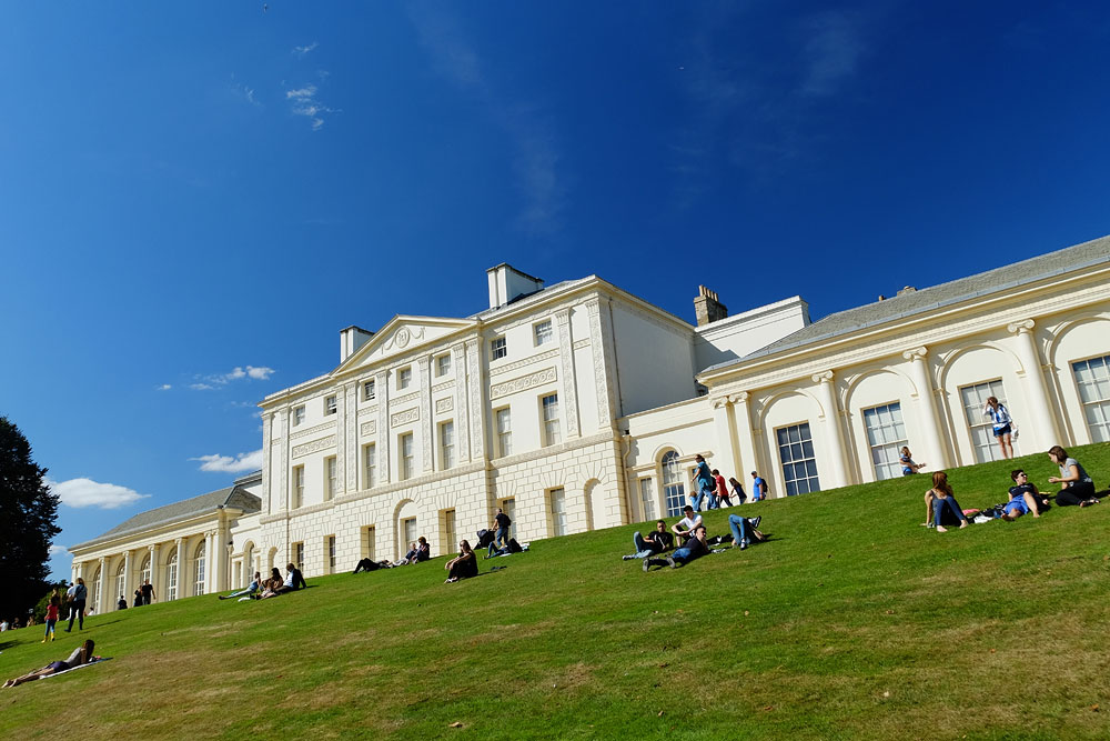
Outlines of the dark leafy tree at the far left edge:
{"type": "Polygon", "coordinates": [[[46,475],[31,443],[0,417],[0,618],[23,619],[48,588],[50,540],[61,530],[46,475]]]}

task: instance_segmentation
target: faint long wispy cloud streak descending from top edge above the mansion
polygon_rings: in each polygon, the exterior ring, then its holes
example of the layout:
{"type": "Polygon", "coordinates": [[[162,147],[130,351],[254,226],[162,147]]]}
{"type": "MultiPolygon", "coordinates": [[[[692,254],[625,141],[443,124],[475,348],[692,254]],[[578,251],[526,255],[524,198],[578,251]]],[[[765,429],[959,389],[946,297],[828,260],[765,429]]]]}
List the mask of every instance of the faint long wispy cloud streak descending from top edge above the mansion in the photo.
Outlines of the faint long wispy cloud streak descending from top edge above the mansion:
{"type": "Polygon", "coordinates": [[[458,21],[443,6],[413,3],[410,18],[433,70],[473,97],[507,134],[514,149],[514,170],[524,200],[517,227],[533,236],[561,228],[566,204],[566,174],[554,126],[532,101],[509,101],[484,73],[482,60],[458,21]]]}

